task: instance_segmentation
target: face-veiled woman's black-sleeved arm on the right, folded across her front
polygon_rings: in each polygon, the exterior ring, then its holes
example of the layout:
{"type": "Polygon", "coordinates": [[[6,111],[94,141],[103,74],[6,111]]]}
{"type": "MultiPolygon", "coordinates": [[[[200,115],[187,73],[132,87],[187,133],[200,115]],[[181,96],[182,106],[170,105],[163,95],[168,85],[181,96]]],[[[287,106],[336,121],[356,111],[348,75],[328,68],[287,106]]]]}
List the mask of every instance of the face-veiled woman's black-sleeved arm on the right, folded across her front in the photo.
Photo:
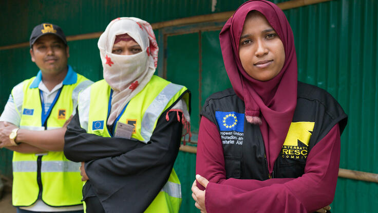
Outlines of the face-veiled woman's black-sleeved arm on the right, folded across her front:
{"type": "MultiPolygon", "coordinates": [[[[178,113],[182,117],[181,113],[178,113]]],[[[130,175],[152,167],[171,167],[177,157],[182,123],[178,122],[177,113],[165,113],[158,119],[156,128],[148,144],[115,157],[106,157],[85,163],[85,170],[91,180],[91,172],[116,175],[130,175]],[[93,170],[93,171],[92,171],[93,170]]],[[[133,141],[137,144],[143,144],[133,141]]]]}

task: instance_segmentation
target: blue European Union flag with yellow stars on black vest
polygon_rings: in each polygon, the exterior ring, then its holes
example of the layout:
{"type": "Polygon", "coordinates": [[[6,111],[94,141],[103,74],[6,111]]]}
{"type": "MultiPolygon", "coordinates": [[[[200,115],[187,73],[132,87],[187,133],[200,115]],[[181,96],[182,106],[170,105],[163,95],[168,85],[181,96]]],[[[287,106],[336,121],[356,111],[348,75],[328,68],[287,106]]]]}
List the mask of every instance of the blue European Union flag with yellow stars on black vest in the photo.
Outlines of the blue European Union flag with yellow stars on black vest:
{"type": "Polygon", "coordinates": [[[244,114],[215,111],[220,131],[244,132],[244,114]]]}

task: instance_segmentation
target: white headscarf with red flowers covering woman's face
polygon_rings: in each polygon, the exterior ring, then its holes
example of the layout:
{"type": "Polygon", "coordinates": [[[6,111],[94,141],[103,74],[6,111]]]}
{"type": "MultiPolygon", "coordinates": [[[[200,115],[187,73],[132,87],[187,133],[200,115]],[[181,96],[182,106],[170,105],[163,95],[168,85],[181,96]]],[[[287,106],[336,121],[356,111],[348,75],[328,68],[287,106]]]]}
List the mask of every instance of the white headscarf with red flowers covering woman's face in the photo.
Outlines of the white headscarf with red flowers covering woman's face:
{"type": "Polygon", "coordinates": [[[151,25],[136,17],[119,17],[101,34],[98,47],[104,79],[114,90],[107,125],[112,125],[128,101],[137,95],[155,73],[159,47],[151,25]],[[135,55],[112,54],[116,36],[128,34],[142,48],[135,55]]]}

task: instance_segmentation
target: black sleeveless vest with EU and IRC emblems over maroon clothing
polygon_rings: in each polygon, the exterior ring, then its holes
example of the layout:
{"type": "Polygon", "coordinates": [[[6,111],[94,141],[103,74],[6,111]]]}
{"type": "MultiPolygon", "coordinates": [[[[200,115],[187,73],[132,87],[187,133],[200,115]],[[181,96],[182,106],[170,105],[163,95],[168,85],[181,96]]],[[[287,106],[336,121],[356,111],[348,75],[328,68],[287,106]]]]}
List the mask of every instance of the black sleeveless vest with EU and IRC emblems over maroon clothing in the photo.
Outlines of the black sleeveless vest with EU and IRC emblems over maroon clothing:
{"type": "MultiPolygon", "coordinates": [[[[244,102],[232,88],[210,96],[201,115],[218,126],[226,178],[260,181],[269,178],[260,128],[247,122],[244,102]]],[[[294,135],[282,146],[275,161],[273,178],[298,178],[303,175],[308,153],[336,123],[339,123],[342,133],[347,115],[337,101],[321,88],[298,82],[297,105],[291,127],[299,128],[303,134],[299,137],[294,135]],[[312,126],[313,129],[304,129],[305,126],[312,126]]],[[[290,130],[289,133],[295,134],[290,130]]]]}

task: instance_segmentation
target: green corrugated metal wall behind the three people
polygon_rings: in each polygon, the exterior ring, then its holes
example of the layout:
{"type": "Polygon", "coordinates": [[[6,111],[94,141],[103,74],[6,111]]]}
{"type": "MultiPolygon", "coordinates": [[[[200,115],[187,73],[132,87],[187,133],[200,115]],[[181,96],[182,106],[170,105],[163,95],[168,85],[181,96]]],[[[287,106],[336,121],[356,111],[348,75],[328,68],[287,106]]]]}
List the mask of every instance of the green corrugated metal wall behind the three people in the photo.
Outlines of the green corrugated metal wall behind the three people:
{"type": "MultiPolygon", "coordinates": [[[[218,0],[213,9],[214,12],[235,10],[242,2],[218,0]]],[[[7,20],[0,26],[3,34],[0,46],[28,41],[32,28],[46,21],[60,25],[70,36],[103,31],[108,22],[118,16],[137,16],[155,23],[212,13],[211,0],[18,0],[2,2],[0,6],[0,17],[7,20]]],[[[349,115],[342,136],[341,168],[378,173],[375,163],[378,162],[378,155],[375,155],[378,152],[378,127],[374,122],[378,120],[378,1],[335,0],[286,10],[285,13],[295,36],[299,80],[325,88],[349,115]]],[[[162,31],[157,30],[156,34],[162,31]]],[[[198,130],[200,105],[209,94],[228,85],[220,58],[218,32],[202,30],[171,35],[167,36],[165,44],[166,77],[192,87],[195,132],[198,130]],[[173,56],[184,54],[191,67],[185,67],[187,71],[182,72],[182,64],[173,60],[173,56]],[[214,86],[213,82],[222,83],[214,86]]],[[[92,80],[101,79],[97,39],[73,41],[69,46],[69,63],[75,70],[92,80]]],[[[3,108],[11,87],[35,75],[37,67],[30,61],[26,47],[0,50],[0,63],[0,107],[3,108]]],[[[10,161],[11,153],[0,150],[0,172],[8,176],[11,175],[10,161]]],[[[175,169],[183,187],[181,212],[197,212],[188,188],[194,181],[195,155],[180,152],[175,169]]],[[[339,178],[333,212],[377,212],[377,193],[376,183],[339,178]]]]}

